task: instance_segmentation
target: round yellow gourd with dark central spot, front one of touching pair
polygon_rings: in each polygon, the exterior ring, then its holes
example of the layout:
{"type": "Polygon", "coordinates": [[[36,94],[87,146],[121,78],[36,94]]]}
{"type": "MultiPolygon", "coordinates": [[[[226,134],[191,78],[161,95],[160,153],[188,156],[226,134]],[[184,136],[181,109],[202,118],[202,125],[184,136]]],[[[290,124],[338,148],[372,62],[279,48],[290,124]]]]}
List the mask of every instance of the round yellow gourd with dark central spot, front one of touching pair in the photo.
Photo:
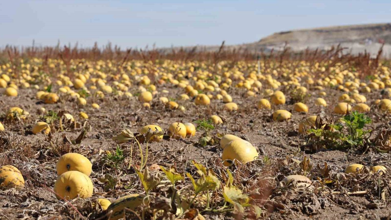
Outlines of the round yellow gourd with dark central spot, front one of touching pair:
{"type": "Polygon", "coordinates": [[[89,198],[93,193],[90,177],[79,171],[67,171],[57,177],[54,184],[57,199],[89,198]]]}

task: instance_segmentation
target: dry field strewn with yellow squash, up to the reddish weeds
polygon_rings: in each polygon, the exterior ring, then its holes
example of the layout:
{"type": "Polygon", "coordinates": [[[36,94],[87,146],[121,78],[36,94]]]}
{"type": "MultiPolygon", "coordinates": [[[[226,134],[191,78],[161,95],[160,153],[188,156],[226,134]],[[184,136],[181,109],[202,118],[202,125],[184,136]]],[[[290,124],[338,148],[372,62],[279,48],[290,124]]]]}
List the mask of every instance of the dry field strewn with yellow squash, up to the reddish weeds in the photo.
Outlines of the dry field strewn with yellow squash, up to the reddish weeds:
{"type": "Polygon", "coordinates": [[[387,60],[8,49],[0,219],[389,218],[387,60]]]}

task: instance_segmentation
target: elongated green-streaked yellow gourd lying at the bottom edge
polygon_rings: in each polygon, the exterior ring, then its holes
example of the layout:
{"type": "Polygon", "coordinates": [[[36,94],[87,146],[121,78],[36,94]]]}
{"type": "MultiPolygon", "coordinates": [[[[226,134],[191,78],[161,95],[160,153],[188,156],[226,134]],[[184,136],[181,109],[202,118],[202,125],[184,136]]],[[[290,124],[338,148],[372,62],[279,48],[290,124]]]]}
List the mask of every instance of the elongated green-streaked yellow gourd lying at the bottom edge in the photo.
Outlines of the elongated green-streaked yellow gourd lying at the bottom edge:
{"type": "Polygon", "coordinates": [[[124,197],[120,197],[117,200],[113,201],[110,206],[107,208],[107,211],[112,211],[112,215],[109,220],[118,220],[123,218],[125,208],[134,210],[136,207],[140,206],[143,202],[145,195],[131,194],[124,197]]]}

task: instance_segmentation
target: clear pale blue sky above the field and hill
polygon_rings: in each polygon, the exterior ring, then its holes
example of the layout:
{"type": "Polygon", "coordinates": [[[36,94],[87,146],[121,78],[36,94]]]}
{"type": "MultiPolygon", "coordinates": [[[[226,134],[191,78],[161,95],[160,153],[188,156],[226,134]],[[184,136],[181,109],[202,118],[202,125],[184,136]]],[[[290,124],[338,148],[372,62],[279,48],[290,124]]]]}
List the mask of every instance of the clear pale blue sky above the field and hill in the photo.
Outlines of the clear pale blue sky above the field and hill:
{"type": "Polygon", "coordinates": [[[239,44],[290,29],[391,22],[390,10],[391,0],[1,0],[0,47],[33,39],[122,48],[239,44]]]}

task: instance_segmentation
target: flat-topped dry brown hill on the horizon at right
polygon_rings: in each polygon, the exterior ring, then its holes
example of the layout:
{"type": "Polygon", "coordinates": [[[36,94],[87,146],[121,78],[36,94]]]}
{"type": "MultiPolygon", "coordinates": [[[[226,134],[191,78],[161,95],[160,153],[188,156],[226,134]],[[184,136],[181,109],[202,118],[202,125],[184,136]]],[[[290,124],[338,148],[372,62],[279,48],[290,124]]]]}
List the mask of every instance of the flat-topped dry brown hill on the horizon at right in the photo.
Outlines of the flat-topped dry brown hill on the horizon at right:
{"type": "MultiPolygon", "coordinates": [[[[364,25],[344,25],[334,27],[318,27],[313,29],[301,29],[282,31],[271,34],[253,43],[241,45],[228,45],[227,49],[246,48],[253,51],[265,52],[282,50],[287,43],[294,51],[307,48],[328,50],[333,45],[341,44],[348,49],[345,52],[358,54],[367,51],[376,56],[382,43],[384,43],[383,57],[391,58],[391,23],[377,23],[364,25]]],[[[190,49],[191,47],[185,47],[190,49]]],[[[218,50],[219,46],[199,46],[199,49],[218,50]]]]}

